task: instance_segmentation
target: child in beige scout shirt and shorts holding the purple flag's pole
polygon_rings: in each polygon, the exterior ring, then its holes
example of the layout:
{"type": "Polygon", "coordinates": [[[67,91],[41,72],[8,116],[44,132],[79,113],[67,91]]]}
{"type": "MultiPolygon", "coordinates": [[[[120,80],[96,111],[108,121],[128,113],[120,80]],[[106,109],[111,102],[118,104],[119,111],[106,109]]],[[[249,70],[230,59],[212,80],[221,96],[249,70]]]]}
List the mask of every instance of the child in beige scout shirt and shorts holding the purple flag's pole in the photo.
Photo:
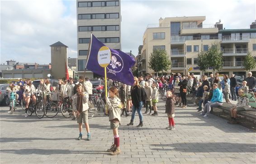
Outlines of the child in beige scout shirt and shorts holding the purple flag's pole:
{"type": "Polygon", "coordinates": [[[87,92],[82,91],[82,85],[77,84],[76,87],[77,93],[73,96],[73,110],[77,114],[77,123],[79,127],[79,137],[77,140],[82,139],[82,123],[84,122],[85,124],[85,129],[87,131],[87,140],[90,141],[90,128],[88,124],[88,100],[89,100],[89,95],[87,92]]]}

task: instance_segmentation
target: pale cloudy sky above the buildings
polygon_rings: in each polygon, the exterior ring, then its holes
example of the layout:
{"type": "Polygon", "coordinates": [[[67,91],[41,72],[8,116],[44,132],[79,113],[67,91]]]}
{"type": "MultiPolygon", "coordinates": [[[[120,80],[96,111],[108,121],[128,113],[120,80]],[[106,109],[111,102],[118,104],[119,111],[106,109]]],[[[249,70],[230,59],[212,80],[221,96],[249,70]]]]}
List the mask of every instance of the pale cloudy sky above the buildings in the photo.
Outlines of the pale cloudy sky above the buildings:
{"type": "MultiPolygon", "coordinates": [[[[77,57],[76,0],[0,0],[0,63],[51,62],[49,45],[60,41],[77,57]]],[[[148,24],[160,17],[206,16],[223,27],[250,28],[256,19],[254,0],[121,0],[122,51],[136,56],[148,24]]]]}

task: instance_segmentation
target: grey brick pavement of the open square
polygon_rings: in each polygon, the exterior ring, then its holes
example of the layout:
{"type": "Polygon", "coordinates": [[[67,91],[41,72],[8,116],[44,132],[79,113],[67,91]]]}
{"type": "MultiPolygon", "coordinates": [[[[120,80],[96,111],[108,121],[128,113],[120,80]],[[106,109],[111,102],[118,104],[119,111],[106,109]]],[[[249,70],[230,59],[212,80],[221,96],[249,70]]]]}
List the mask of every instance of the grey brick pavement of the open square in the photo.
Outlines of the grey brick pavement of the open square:
{"type": "MultiPolygon", "coordinates": [[[[144,115],[144,126],[127,127],[122,117],[119,128],[121,154],[109,155],[113,142],[108,117],[89,120],[91,141],[77,141],[76,121],[62,117],[24,117],[21,109],[13,115],[0,107],[1,164],[255,164],[256,133],[226,120],[198,116],[195,107],[176,108],[176,130],[164,129],[168,119],[164,103],[159,116],[144,115]]],[[[84,136],[85,130],[83,128],[84,136]]]]}

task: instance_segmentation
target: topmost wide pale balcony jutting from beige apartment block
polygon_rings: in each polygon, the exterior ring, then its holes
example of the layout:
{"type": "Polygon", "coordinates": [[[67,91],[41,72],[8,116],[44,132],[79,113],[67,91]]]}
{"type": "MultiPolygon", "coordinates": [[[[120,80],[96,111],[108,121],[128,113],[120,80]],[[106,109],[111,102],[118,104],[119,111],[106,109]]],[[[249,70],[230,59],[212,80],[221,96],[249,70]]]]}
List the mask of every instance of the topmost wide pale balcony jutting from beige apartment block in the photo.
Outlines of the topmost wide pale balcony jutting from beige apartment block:
{"type": "Polygon", "coordinates": [[[214,24],[203,24],[202,26],[183,26],[180,30],[181,35],[194,33],[218,33],[218,28],[214,24]]]}

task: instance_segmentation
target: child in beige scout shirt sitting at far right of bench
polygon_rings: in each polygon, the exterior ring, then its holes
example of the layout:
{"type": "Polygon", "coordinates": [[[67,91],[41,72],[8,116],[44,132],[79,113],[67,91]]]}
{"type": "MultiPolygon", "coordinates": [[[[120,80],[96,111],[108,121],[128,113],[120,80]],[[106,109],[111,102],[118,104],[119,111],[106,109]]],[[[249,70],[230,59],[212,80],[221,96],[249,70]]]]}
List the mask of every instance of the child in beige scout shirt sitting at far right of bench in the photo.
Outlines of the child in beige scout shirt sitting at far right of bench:
{"type": "Polygon", "coordinates": [[[244,107],[249,107],[249,98],[244,94],[243,89],[238,89],[238,100],[237,104],[230,109],[230,114],[231,114],[231,120],[228,122],[230,124],[237,124],[237,111],[245,111],[244,107]]]}

